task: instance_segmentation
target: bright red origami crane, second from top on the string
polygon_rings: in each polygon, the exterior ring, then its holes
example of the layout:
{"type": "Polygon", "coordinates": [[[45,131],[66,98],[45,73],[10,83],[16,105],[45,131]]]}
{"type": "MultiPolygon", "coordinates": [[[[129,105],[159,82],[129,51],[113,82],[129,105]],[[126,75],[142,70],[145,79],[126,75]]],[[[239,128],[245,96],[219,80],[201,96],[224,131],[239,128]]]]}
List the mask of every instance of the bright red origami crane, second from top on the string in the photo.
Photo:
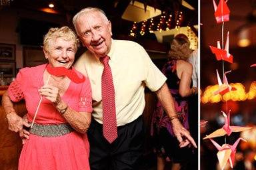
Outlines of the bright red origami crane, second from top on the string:
{"type": "Polygon", "coordinates": [[[217,48],[210,46],[211,52],[215,54],[217,60],[225,60],[227,62],[233,63],[233,56],[229,54],[229,31],[227,32],[227,40],[225,44],[225,49],[221,49],[221,44],[217,41],[217,48]]]}

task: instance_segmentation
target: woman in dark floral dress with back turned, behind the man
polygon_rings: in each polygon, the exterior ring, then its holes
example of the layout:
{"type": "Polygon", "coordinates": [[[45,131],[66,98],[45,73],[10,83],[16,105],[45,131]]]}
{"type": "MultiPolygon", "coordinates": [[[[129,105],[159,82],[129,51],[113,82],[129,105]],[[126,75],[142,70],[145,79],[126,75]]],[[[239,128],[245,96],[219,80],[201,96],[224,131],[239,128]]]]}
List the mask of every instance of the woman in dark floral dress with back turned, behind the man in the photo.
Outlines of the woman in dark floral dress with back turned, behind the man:
{"type": "MultiPolygon", "coordinates": [[[[189,42],[182,38],[175,38],[169,50],[169,61],[162,69],[167,76],[167,85],[171,95],[175,99],[177,118],[186,129],[189,129],[186,97],[197,93],[197,88],[190,88],[193,66],[186,62],[190,54],[189,42]]],[[[185,163],[187,148],[179,148],[181,145],[171,126],[171,121],[174,119],[167,116],[160,103],[157,104],[151,124],[151,135],[153,135],[157,152],[157,170],[165,168],[166,159],[173,161],[172,169],[180,169],[181,163],[185,163]]]]}

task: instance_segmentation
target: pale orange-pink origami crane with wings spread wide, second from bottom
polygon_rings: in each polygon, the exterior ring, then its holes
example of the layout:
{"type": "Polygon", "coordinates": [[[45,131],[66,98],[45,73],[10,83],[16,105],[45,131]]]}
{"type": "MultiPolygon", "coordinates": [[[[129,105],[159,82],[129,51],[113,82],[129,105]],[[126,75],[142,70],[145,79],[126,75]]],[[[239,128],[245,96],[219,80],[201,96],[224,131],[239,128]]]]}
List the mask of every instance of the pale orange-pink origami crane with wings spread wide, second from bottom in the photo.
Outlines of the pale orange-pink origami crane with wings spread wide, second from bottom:
{"type": "Polygon", "coordinates": [[[230,110],[229,113],[226,115],[225,112],[221,111],[223,116],[225,117],[225,124],[221,129],[217,129],[216,131],[213,131],[213,133],[207,135],[203,139],[209,139],[213,137],[220,137],[223,135],[231,135],[232,132],[239,132],[239,131],[244,131],[247,129],[251,129],[248,127],[242,127],[242,126],[230,126],[230,110]]]}

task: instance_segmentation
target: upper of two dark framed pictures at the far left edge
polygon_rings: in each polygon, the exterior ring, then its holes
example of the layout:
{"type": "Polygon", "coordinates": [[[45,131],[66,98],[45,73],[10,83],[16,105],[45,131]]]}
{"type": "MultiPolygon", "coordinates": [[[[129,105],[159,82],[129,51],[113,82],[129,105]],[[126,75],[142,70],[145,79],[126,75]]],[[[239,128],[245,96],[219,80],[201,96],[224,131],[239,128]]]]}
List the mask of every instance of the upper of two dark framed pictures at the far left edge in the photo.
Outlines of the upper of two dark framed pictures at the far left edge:
{"type": "Polygon", "coordinates": [[[0,43],[0,60],[13,60],[15,61],[15,44],[2,44],[0,43]]]}

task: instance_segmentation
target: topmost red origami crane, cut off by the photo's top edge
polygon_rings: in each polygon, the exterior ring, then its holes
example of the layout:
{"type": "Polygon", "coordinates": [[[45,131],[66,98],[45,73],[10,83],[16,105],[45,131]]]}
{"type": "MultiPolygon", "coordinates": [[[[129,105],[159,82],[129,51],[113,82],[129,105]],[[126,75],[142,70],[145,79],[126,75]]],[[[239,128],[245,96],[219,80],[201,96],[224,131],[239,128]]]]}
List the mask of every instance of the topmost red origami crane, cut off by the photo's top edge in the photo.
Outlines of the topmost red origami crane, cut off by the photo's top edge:
{"type": "Polygon", "coordinates": [[[227,7],[227,1],[220,0],[217,7],[215,0],[213,0],[214,15],[217,23],[223,23],[229,21],[229,7],[227,7]]]}

